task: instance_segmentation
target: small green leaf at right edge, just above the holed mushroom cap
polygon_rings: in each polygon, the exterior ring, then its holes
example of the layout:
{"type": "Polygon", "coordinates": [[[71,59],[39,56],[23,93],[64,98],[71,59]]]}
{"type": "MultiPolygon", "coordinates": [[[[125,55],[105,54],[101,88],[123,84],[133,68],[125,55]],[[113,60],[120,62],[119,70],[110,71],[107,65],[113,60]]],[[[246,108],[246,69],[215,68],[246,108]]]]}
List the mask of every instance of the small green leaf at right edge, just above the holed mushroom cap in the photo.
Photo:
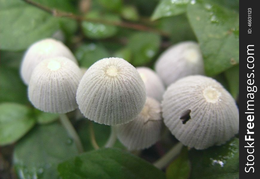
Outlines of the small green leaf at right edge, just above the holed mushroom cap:
{"type": "Polygon", "coordinates": [[[226,70],[224,74],[227,78],[230,94],[236,100],[239,92],[239,65],[226,70]]]}

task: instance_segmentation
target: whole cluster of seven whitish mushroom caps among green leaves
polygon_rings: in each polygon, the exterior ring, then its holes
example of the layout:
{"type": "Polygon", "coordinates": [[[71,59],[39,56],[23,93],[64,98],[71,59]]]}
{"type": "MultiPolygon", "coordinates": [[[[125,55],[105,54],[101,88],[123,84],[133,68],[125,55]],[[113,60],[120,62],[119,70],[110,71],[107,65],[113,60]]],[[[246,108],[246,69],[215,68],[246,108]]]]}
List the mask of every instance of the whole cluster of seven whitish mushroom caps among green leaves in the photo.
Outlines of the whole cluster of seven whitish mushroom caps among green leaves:
{"type": "Polygon", "coordinates": [[[115,136],[129,150],[159,141],[163,122],[195,149],[221,145],[238,133],[235,101],[220,83],[201,75],[197,43],[170,47],[158,58],[155,71],[114,57],[80,69],[68,47],[49,38],[31,45],[21,64],[34,107],[54,113],[79,108],[91,121],[114,125],[115,136]]]}

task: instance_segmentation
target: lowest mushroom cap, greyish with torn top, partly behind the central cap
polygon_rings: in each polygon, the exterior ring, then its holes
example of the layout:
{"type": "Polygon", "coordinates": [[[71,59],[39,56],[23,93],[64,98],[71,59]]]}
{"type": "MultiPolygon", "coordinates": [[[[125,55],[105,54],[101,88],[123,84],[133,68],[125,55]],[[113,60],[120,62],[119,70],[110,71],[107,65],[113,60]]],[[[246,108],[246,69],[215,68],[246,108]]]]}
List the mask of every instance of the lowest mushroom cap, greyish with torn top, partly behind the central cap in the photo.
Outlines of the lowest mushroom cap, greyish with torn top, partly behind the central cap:
{"type": "Polygon", "coordinates": [[[160,140],[162,124],[160,103],[147,97],[134,121],[117,126],[117,138],[129,150],[146,149],[160,140]]]}

